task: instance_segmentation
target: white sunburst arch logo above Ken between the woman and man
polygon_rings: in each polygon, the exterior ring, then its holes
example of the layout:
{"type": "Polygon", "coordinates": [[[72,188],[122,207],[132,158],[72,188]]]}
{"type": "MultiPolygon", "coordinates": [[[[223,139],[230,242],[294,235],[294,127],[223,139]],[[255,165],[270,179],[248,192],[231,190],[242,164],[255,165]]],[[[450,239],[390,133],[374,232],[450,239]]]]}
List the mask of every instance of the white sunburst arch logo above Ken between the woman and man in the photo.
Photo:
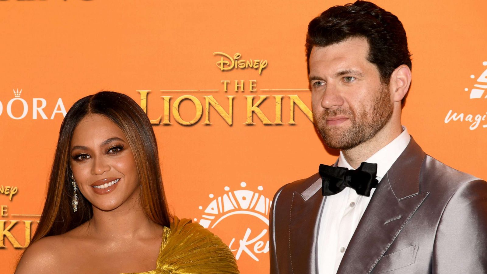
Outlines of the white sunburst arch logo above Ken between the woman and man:
{"type": "MultiPolygon", "coordinates": [[[[240,183],[241,187],[246,187],[247,184],[245,182],[240,183]]],[[[261,219],[266,225],[269,225],[269,209],[271,207],[272,201],[269,198],[266,198],[260,193],[253,192],[251,190],[235,190],[230,192],[230,188],[225,186],[226,194],[223,196],[215,198],[205,209],[204,214],[201,215],[202,218],[200,219],[199,223],[208,228],[210,224],[213,222],[211,228],[214,228],[220,221],[225,219],[228,216],[236,215],[236,214],[245,214],[245,215],[253,215],[259,219],[261,219]],[[215,220],[220,214],[224,214],[220,216],[218,219],[215,220]]],[[[258,190],[262,191],[264,188],[262,186],[257,187],[258,190]]],[[[214,195],[210,194],[210,198],[213,198],[214,195]]],[[[203,210],[202,206],[198,207],[200,210],[203,210]]],[[[194,219],[197,221],[197,219],[194,219]]]]}

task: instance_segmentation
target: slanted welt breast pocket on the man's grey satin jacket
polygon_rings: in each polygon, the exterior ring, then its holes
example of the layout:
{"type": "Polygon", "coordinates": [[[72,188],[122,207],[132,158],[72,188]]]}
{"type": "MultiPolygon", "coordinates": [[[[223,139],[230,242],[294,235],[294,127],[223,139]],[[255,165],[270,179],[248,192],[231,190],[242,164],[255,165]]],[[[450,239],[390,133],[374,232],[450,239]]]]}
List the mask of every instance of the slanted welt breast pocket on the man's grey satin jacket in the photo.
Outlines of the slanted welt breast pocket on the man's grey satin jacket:
{"type": "Polygon", "coordinates": [[[418,251],[417,245],[412,245],[403,248],[391,254],[387,254],[380,258],[379,262],[374,268],[373,273],[387,273],[396,269],[412,265],[416,261],[416,253],[418,251]]]}

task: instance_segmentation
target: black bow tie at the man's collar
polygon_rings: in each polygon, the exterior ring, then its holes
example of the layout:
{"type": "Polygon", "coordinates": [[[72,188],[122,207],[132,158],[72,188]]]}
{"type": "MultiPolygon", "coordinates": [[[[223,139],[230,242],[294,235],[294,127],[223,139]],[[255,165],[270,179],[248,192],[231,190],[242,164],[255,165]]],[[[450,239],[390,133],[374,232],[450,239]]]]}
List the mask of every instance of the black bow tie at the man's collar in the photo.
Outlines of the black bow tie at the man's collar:
{"type": "Polygon", "coordinates": [[[348,186],[355,189],[358,195],[369,197],[370,191],[379,183],[376,174],[377,164],[366,162],[362,162],[356,170],[320,164],[321,193],[323,196],[335,195],[348,186]]]}

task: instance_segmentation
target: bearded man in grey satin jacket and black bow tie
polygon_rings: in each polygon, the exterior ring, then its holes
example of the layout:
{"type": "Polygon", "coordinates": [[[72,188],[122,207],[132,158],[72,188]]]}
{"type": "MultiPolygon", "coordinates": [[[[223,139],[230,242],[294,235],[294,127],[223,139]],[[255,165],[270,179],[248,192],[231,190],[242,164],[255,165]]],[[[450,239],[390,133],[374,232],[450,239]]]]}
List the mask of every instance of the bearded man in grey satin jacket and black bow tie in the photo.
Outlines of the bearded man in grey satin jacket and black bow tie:
{"type": "Polygon", "coordinates": [[[426,155],[401,126],[406,33],[373,3],[335,6],[306,38],[315,126],[333,166],[283,186],[272,274],[487,273],[487,183],[426,155]]]}

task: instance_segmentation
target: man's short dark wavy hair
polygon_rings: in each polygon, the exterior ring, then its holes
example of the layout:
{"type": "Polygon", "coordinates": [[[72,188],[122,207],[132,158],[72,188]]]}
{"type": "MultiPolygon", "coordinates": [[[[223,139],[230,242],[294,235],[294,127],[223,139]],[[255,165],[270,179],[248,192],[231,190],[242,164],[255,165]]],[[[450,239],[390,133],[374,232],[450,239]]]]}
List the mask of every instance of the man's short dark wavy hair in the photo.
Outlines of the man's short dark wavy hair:
{"type": "Polygon", "coordinates": [[[375,64],[381,82],[389,84],[398,66],[410,69],[411,54],[404,27],[392,13],[374,3],[358,0],[344,6],[334,6],[311,20],[306,35],[306,58],[314,46],[326,47],[352,37],[363,37],[369,44],[368,60],[375,64]]]}

